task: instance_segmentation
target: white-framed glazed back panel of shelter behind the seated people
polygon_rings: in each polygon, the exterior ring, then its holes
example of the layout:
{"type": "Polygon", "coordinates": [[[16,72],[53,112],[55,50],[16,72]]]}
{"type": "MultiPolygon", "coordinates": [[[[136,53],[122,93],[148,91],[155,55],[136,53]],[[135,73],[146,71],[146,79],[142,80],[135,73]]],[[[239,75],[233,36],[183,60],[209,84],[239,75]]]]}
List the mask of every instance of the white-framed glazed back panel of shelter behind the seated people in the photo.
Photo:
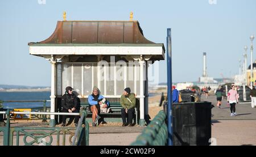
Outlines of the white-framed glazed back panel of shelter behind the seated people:
{"type": "MultiPolygon", "coordinates": [[[[131,92],[134,92],[135,94],[137,94],[137,96],[140,96],[139,92],[139,88],[140,88],[140,83],[139,83],[139,65],[138,66],[129,66],[129,63],[126,62],[127,65],[123,68],[125,68],[123,70],[123,80],[121,80],[121,84],[123,87],[119,87],[118,86],[118,81],[117,81],[117,70],[119,69],[119,66],[113,65],[110,64],[110,62],[108,62],[108,65],[109,67],[102,67],[102,70],[104,70],[104,75],[102,75],[102,77],[104,77],[104,80],[101,82],[100,81],[100,84],[102,84],[102,86],[98,86],[98,62],[62,62],[61,63],[61,80],[62,82],[61,83],[57,83],[57,84],[61,84],[61,89],[62,91],[60,92],[59,89],[60,88],[57,88],[57,94],[59,95],[60,93],[64,94],[65,92],[65,87],[67,86],[72,86],[74,84],[76,84],[74,81],[77,80],[74,79],[74,67],[79,67],[81,66],[81,87],[79,88],[80,91],[77,91],[81,97],[88,97],[88,95],[90,95],[92,93],[92,88],[93,86],[97,86],[100,90],[101,90],[101,95],[104,95],[105,97],[120,97],[122,95],[122,92],[124,88],[126,88],[126,86],[129,86],[131,88],[131,92]],[[76,66],[74,66],[76,65],[76,66]],[[79,66],[78,66],[79,65],[79,66]],[[85,66],[86,65],[90,65],[90,71],[88,72],[88,74],[90,73],[90,76],[86,75],[85,76],[85,66]],[[71,69],[67,69],[65,67],[68,67],[68,68],[71,68],[71,69]],[[110,78],[110,69],[113,68],[114,69],[114,80],[106,80],[107,76],[106,76],[106,73],[108,72],[108,78],[110,78]],[[129,80],[129,75],[130,75],[130,69],[133,69],[133,79],[134,81],[130,81],[129,80]],[[65,71],[66,70],[66,71],[65,71]],[[70,71],[69,74],[67,74],[68,72],[70,71]],[[95,74],[97,73],[97,74],[95,74]],[[89,87],[85,87],[85,82],[86,80],[89,77],[89,82],[90,83],[90,89],[86,89],[86,88],[89,88],[89,87]],[[95,78],[96,77],[96,78],[95,78]],[[68,79],[71,79],[71,80],[67,80],[65,78],[68,78],[68,79]],[[106,87],[108,87],[108,84],[109,81],[113,81],[113,85],[114,85],[114,89],[112,88],[112,94],[109,94],[110,91],[108,91],[108,89],[106,87]],[[123,82],[123,83],[122,83],[123,82]],[[103,89],[103,90],[102,90],[103,89]],[[85,92],[85,90],[88,90],[88,92],[85,92]]],[[[58,63],[59,64],[59,63],[58,63]]],[[[58,75],[58,74],[57,74],[58,75]]],[[[77,75],[77,74],[76,74],[77,75]]],[[[57,80],[59,80],[59,78],[57,78],[57,80]]],[[[73,87],[75,88],[75,87],[73,87]]],[[[75,88],[75,91],[76,91],[76,88],[75,88]]]]}

